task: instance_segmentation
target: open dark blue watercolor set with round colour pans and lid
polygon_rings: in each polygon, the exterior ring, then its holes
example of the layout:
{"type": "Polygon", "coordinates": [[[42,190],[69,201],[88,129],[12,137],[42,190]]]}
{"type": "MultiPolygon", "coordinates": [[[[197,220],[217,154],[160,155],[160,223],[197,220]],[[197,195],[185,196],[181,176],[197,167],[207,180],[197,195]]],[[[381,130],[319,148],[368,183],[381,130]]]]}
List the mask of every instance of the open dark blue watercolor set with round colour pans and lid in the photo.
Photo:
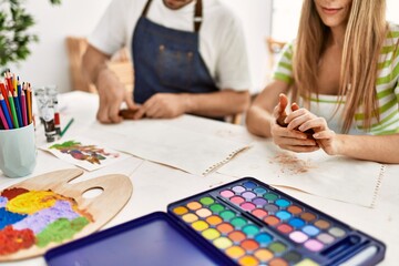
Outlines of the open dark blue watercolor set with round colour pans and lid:
{"type": "Polygon", "coordinates": [[[172,203],[167,214],[54,248],[45,259],[51,266],[100,265],[105,255],[109,265],[376,265],[385,252],[378,239],[244,177],[172,203]]]}

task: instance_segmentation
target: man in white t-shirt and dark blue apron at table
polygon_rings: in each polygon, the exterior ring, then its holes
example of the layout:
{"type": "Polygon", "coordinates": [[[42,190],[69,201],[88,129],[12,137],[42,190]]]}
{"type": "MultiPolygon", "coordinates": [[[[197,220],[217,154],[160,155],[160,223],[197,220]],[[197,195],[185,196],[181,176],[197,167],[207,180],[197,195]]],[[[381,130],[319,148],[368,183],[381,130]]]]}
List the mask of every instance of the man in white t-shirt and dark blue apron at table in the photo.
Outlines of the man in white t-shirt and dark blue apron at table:
{"type": "Polygon", "coordinates": [[[243,28],[218,0],[113,0],[89,44],[83,69],[96,85],[102,123],[121,122],[123,102],[135,120],[183,113],[221,119],[249,105],[243,28]],[[106,68],[124,45],[133,58],[133,96],[106,68]]]}

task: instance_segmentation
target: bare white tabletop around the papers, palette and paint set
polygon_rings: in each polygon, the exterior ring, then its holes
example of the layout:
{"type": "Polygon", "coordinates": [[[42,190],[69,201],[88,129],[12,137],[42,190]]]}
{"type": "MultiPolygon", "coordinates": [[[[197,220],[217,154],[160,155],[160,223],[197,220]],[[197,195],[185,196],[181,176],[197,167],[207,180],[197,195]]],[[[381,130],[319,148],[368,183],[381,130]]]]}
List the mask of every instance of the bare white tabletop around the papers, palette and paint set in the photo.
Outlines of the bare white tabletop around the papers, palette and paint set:
{"type": "MultiPolygon", "coordinates": [[[[74,123],[69,129],[68,135],[88,134],[90,126],[98,123],[95,121],[98,106],[98,96],[95,94],[84,92],[61,94],[60,106],[62,113],[74,117],[74,123]]],[[[192,115],[183,115],[177,120],[171,120],[170,123],[176,123],[191,130],[195,129],[197,132],[205,134],[217,134],[217,132],[226,131],[229,133],[226,134],[226,137],[236,141],[258,140],[250,135],[244,126],[192,115]]],[[[44,143],[44,133],[38,129],[37,145],[44,143]]],[[[74,166],[39,150],[38,164],[31,175],[21,178],[8,178],[0,172],[0,190],[45,172],[69,167],[74,166]]],[[[133,184],[133,194],[122,211],[103,228],[115,226],[155,211],[166,212],[168,203],[236,180],[236,177],[218,173],[211,173],[205,177],[196,176],[134,156],[94,172],[85,172],[80,178],[91,178],[113,173],[124,174],[130,177],[133,184]]],[[[398,178],[399,165],[387,165],[379,195],[372,208],[318,197],[291,188],[278,187],[278,190],[382,241],[387,245],[387,252],[386,258],[380,265],[397,265],[397,262],[399,262],[398,178]]],[[[42,266],[45,265],[45,262],[43,257],[37,257],[7,263],[7,265],[42,266]]]]}

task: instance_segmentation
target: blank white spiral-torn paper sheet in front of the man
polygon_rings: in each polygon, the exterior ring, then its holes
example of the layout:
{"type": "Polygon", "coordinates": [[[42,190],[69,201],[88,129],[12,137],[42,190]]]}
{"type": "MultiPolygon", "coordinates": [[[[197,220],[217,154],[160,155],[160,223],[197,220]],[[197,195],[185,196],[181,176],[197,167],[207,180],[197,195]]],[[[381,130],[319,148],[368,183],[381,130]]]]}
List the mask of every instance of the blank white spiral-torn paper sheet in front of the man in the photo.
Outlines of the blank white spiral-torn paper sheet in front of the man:
{"type": "Polygon", "coordinates": [[[196,175],[211,173],[248,147],[245,143],[197,133],[163,120],[94,124],[92,129],[98,132],[93,136],[96,141],[115,150],[196,175]]]}

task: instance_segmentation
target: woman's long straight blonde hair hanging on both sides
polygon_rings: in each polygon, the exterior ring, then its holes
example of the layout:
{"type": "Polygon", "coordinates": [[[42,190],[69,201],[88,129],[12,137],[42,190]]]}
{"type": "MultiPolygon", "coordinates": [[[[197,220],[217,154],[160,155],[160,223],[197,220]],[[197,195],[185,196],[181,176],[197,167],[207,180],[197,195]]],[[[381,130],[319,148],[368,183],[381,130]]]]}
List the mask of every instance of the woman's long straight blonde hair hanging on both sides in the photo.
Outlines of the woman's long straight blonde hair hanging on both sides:
{"type": "MultiPolygon", "coordinates": [[[[340,100],[346,96],[342,132],[348,132],[359,106],[364,126],[370,129],[372,116],[379,120],[376,95],[378,59],[387,34],[386,0],[352,0],[346,28],[340,69],[340,100]]],[[[310,93],[318,95],[318,64],[330,29],[317,13],[315,0],[304,0],[294,52],[293,99],[299,96],[309,106],[310,93]]]]}

